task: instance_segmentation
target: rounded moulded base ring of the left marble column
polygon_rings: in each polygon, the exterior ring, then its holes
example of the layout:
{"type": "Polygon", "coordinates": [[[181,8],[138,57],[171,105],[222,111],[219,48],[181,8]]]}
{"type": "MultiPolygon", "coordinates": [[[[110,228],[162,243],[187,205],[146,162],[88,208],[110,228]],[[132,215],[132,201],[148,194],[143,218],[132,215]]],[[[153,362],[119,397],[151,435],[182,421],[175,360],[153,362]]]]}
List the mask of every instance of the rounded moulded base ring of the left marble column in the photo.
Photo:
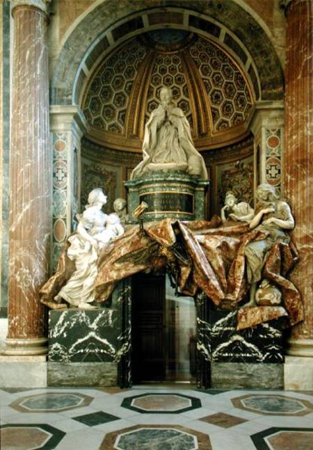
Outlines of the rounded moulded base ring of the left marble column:
{"type": "Polygon", "coordinates": [[[7,337],[4,340],[3,355],[47,355],[47,337],[34,337],[29,339],[13,339],[7,337]]]}

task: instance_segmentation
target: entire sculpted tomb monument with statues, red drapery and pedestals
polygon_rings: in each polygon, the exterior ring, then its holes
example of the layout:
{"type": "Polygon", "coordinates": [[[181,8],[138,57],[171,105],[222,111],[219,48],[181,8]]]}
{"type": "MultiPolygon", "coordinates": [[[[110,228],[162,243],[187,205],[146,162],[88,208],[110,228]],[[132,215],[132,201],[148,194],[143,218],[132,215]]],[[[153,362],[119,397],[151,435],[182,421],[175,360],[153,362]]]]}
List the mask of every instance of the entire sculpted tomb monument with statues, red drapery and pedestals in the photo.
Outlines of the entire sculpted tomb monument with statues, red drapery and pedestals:
{"type": "Polygon", "coordinates": [[[195,300],[198,387],[281,388],[284,329],[303,320],[287,276],[298,260],[289,204],[265,183],[254,209],[228,191],[220,217],[204,220],[207,169],[170,89],[160,97],[125,183],[128,211],[118,199],[104,214],[94,189],[41,289],[49,384],[130,386],[131,278],[161,272],[195,300]]]}

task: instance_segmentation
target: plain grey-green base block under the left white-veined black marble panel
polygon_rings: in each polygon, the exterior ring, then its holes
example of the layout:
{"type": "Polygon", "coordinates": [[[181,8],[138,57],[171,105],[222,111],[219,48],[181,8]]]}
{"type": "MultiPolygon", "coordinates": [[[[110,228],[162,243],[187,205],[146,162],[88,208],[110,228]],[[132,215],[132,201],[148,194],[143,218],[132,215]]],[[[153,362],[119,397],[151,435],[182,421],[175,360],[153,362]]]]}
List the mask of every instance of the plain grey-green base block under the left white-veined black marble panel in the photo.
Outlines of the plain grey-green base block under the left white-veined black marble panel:
{"type": "Polygon", "coordinates": [[[116,387],[115,362],[48,362],[48,386],[116,387]]]}

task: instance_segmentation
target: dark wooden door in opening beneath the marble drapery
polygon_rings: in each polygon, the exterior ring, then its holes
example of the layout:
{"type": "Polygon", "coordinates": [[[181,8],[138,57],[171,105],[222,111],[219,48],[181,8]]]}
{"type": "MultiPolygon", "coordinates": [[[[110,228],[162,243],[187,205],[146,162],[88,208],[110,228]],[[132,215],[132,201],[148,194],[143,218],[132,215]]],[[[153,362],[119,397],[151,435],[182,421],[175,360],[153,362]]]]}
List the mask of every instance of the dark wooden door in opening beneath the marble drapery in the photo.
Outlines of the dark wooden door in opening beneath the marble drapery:
{"type": "Polygon", "coordinates": [[[134,383],[165,379],[165,275],[138,274],[131,295],[134,383]]]}

